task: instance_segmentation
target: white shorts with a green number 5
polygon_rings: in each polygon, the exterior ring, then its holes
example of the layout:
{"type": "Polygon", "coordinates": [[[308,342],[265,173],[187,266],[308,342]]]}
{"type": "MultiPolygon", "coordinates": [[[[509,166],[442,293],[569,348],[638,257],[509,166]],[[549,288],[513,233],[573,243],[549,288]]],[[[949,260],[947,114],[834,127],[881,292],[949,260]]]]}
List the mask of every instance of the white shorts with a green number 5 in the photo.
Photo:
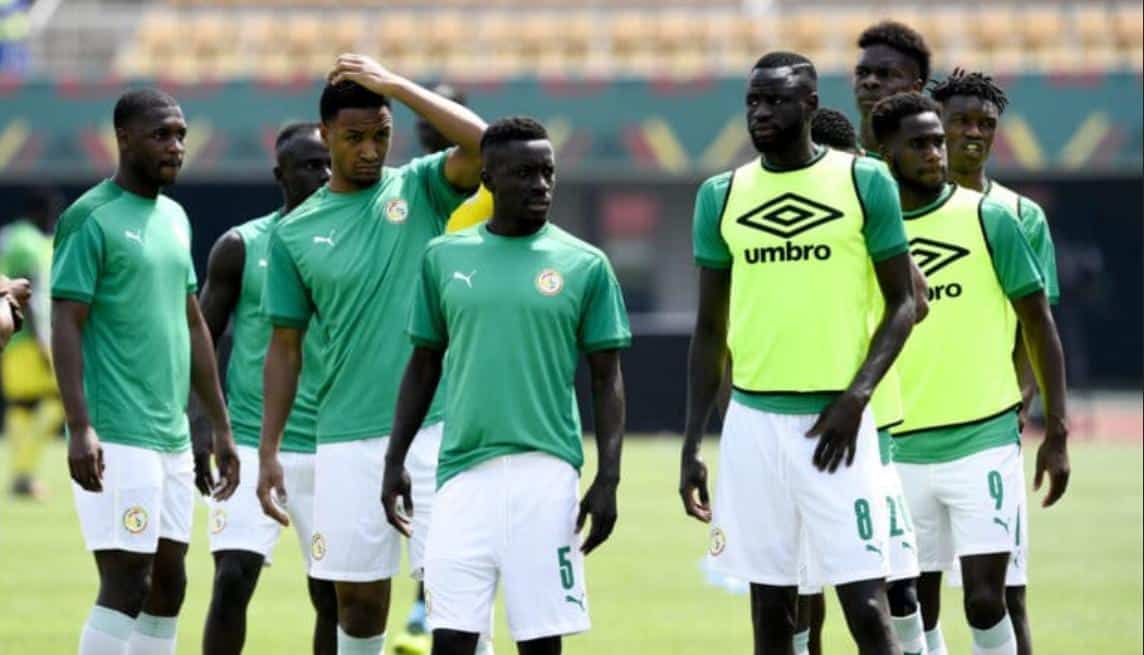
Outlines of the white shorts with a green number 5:
{"type": "Polygon", "coordinates": [[[496,457],[445,482],[426,553],[430,628],[487,633],[500,582],[516,641],[588,630],[578,494],[577,471],[541,453],[496,457]]]}

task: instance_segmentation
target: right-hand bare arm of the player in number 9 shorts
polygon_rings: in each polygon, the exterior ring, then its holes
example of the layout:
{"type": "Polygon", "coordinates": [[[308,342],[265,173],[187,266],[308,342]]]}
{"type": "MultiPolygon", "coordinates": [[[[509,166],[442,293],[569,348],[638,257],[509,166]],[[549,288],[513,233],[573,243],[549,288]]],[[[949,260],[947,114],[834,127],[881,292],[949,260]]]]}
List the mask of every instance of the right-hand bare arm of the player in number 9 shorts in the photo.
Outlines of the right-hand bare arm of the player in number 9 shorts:
{"type": "Polygon", "coordinates": [[[1028,351],[1028,360],[1044,399],[1044,441],[1036,450],[1036,472],[1033,489],[1040,489],[1044,474],[1049,476],[1049,492],[1042,506],[1060,500],[1068,487],[1068,412],[1065,407],[1065,356],[1060,336],[1052,321],[1052,312],[1043,293],[1030,294],[1012,301],[1020,320],[1020,332],[1028,351]]]}

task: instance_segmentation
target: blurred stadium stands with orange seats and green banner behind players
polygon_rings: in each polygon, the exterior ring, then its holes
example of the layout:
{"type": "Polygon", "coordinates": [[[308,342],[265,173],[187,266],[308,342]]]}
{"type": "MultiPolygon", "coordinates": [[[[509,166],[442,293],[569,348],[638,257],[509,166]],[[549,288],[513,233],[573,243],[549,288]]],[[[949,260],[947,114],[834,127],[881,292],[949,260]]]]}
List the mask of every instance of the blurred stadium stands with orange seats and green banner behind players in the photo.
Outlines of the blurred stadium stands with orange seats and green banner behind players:
{"type": "MultiPolygon", "coordinates": [[[[1011,103],[991,171],[1049,217],[1070,382],[1138,390],[1138,2],[0,0],[0,219],[108,176],[112,104],[130,85],[157,85],[190,123],[169,194],[194,223],[201,271],[219,234],[277,206],[277,129],[317,118],[337,53],[367,53],[453,85],[486,119],[527,113],[548,126],[554,219],[611,256],[639,335],[626,360],[631,428],[677,430],[692,203],[702,178],[753,155],[746,72],[769,49],[804,53],[823,104],[857,120],[856,40],[882,18],[925,37],[934,77],[960,66],[1000,79],[1011,103]]],[[[416,154],[399,109],[390,162],[416,154]]]]}

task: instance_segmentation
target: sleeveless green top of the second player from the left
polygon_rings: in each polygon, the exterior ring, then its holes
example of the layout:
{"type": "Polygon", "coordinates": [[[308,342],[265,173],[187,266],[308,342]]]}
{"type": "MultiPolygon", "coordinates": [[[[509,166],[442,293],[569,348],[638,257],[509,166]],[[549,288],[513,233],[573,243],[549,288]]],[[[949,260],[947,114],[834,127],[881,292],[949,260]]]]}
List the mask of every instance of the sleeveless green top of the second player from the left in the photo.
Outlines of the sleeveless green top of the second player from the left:
{"type": "MultiPolygon", "coordinates": [[[[279,217],[279,213],[275,211],[235,229],[243,239],[246,257],[243,264],[243,288],[235,307],[235,346],[227,367],[227,407],[235,431],[235,442],[252,448],[259,446],[262,426],[262,366],[270,345],[270,333],[273,330],[262,313],[262,287],[267,279],[270,227],[279,217]]],[[[302,342],[302,377],[281,441],[281,449],[286,453],[313,453],[317,447],[318,385],[321,382],[319,338],[319,330],[311,327],[302,342]]]]}

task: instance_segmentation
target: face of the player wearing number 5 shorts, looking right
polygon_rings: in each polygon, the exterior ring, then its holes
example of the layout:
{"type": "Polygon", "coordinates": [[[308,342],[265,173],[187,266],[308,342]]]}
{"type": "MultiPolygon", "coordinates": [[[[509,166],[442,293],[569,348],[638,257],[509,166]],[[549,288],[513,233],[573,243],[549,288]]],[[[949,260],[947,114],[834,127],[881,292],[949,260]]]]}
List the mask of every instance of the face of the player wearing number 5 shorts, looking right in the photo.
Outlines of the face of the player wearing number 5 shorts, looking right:
{"type": "Polygon", "coordinates": [[[548,139],[515,141],[485,154],[482,181],[498,214],[543,223],[556,189],[556,158],[548,139]]]}

